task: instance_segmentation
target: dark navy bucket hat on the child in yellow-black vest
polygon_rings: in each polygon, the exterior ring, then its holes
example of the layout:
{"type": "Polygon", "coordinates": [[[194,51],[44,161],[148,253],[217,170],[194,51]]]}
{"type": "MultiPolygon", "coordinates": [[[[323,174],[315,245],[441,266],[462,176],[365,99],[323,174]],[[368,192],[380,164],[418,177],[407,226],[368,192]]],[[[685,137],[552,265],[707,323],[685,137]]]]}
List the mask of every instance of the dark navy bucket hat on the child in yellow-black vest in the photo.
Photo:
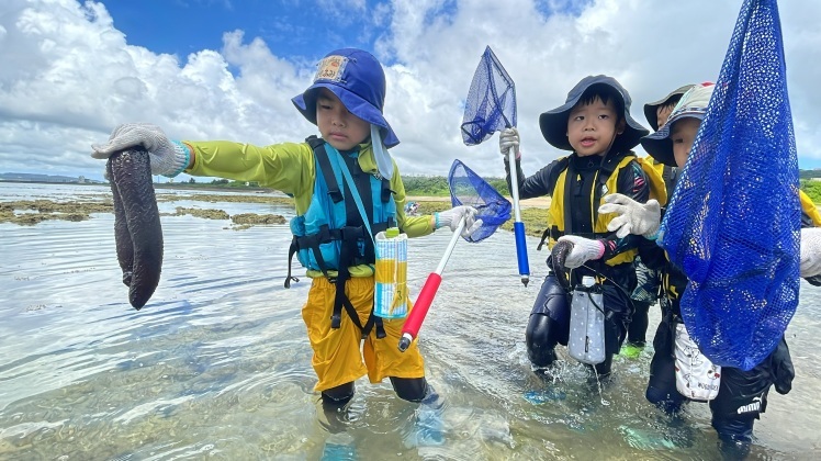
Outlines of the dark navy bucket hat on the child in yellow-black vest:
{"type": "Polygon", "coordinates": [[[639,144],[639,139],[645,136],[650,131],[643,126],[632,116],[630,116],[630,94],[627,90],[621,87],[621,83],[616,81],[615,78],[608,76],[588,76],[582,79],[572,90],[567,93],[567,99],[564,104],[542,113],[539,116],[539,127],[544,139],[548,140],[553,147],[562,150],[573,150],[573,146],[570,145],[567,139],[567,119],[570,117],[570,111],[573,106],[578,103],[582,95],[588,88],[594,85],[606,85],[616,90],[616,93],[621,98],[622,105],[625,108],[625,132],[616,136],[616,140],[612,143],[611,150],[627,150],[636,147],[639,144]]]}

